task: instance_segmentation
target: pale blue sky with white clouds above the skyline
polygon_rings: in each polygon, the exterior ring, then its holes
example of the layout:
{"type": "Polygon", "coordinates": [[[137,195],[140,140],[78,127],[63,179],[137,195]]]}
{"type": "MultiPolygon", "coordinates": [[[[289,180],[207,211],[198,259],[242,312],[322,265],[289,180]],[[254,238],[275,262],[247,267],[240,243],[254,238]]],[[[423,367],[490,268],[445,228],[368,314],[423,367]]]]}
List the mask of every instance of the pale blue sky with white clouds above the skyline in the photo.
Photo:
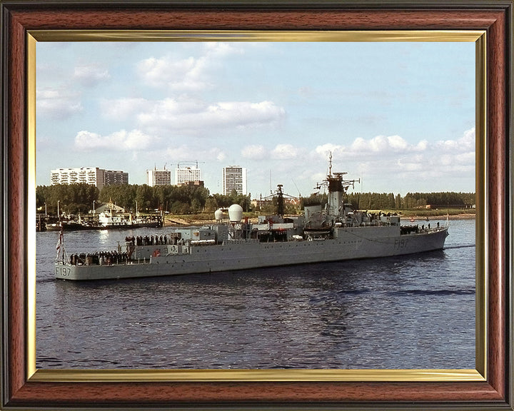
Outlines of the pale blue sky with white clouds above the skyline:
{"type": "Polygon", "coordinates": [[[475,191],[473,42],[44,42],[36,46],[36,184],[53,168],[198,162],[211,193],[248,169],[252,198],[475,191]]]}

